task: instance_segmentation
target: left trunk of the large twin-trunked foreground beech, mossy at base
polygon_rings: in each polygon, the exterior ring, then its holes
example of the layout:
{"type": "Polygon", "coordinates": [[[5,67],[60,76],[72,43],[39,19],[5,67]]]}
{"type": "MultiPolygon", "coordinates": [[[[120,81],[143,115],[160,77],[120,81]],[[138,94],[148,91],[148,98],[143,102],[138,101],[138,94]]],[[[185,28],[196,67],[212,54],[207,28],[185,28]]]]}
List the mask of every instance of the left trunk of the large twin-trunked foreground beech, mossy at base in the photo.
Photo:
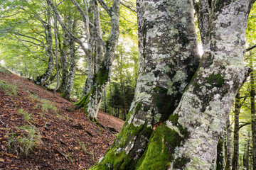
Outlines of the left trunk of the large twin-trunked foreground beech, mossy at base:
{"type": "MultiPolygon", "coordinates": [[[[134,101],[114,145],[92,169],[103,168],[105,164],[111,164],[113,169],[135,169],[153,129],[174,112],[198,67],[191,4],[187,1],[177,4],[175,1],[159,1],[156,4],[138,1],[137,5],[139,77],[134,101]],[[181,18],[182,21],[179,20],[181,18]]],[[[162,135],[159,140],[162,140],[162,135]]],[[[161,144],[157,149],[162,151],[164,148],[159,148],[161,144]]],[[[156,161],[152,166],[159,164],[156,161]]]]}

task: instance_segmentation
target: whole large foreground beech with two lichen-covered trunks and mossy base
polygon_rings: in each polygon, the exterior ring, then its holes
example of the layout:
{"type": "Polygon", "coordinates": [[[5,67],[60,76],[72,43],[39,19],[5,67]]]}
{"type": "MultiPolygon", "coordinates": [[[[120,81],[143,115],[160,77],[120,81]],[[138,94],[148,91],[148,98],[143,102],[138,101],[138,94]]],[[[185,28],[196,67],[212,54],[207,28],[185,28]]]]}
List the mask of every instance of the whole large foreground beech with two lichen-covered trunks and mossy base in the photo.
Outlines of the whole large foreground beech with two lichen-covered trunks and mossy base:
{"type": "Polygon", "coordinates": [[[247,72],[253,3],[137,0],[136,94],[122,131],[91,169],[210,169],[247,72]],[[204,48],[199,67],[193,6],[204,48]]]}

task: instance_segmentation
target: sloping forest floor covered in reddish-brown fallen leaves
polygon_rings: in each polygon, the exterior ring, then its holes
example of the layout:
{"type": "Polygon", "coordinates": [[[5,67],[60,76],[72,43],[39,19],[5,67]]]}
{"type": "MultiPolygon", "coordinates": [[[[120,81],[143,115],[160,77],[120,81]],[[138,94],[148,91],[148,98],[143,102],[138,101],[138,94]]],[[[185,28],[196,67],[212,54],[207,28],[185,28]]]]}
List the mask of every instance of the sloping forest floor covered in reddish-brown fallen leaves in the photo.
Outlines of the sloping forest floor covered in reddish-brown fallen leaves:
{"type": "Polygon", "coordinates": [[[0,66],[0,169],[89,169],[124,124],[82,108],[0,66]]]}

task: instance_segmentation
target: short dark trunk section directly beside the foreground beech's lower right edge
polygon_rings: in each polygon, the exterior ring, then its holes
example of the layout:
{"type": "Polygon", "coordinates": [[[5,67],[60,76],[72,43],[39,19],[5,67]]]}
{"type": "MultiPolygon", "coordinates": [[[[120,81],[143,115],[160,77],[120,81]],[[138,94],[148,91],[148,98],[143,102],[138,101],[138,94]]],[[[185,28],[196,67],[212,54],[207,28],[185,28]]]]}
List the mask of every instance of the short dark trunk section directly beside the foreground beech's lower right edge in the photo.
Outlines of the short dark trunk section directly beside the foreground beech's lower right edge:
{"type": "Polygon", "coordinates": [[[224,154],[223,154],[224,145],[223,144],[224,144],[224,137],[223,135],[220,135],[220,139],[217,145],[216,170],[224,169],[224,154]]]}

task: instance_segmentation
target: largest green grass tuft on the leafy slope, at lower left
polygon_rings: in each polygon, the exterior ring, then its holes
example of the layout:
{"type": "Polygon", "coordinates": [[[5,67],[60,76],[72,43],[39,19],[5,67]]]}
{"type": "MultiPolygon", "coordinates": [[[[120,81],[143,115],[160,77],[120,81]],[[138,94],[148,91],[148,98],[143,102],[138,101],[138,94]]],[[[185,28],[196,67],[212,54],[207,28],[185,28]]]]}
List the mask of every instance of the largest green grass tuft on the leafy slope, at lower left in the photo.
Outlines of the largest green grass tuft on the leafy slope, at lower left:
{"type": "Polygon", "coordinates": [[[27,157],[33,149],[40,146],[41,135],[32,126],[22,126],[6,135],[8,139],[8,151],[18,156],[27,157]]]}

